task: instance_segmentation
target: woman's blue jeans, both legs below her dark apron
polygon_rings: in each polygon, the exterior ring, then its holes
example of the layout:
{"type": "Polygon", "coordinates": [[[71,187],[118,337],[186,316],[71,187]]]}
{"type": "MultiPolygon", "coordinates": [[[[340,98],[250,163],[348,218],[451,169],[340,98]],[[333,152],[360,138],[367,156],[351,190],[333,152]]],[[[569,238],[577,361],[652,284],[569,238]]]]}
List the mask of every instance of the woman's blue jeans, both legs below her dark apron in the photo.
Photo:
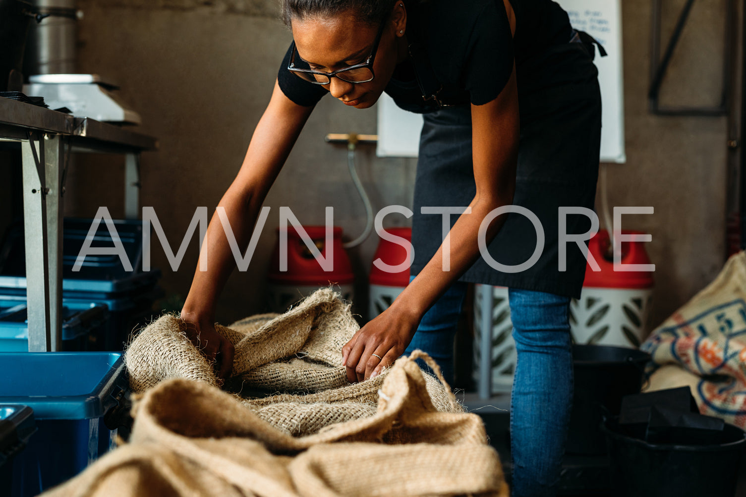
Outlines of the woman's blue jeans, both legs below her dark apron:
{"type": "MultiPolygon", "coordinates": [[[[427,311],[412,343],[453,378],[453,344],[467,285],[457,282],[427,311]]],[[[513,497],[554,496],[572,406],[570,299],[511,288],[510,319],[518,352],[510,399],[513,497]]]]}

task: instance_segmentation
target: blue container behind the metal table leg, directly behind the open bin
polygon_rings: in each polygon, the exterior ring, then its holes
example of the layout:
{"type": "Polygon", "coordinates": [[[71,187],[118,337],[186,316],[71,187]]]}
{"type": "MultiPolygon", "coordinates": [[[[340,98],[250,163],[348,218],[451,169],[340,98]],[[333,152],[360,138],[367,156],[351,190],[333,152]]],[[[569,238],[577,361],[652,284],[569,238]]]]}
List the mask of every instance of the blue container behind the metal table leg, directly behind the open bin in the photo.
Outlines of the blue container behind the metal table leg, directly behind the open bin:
{"type": "MultiPolygon", "coordinates": [[[[106,304],[90,301],[63,303],[63,350],[96,350],[98,335],[107,320],[106,304]]],[[[25,297],[0,296],[0,352],[28,351],[28,318],[25,297]]]]}

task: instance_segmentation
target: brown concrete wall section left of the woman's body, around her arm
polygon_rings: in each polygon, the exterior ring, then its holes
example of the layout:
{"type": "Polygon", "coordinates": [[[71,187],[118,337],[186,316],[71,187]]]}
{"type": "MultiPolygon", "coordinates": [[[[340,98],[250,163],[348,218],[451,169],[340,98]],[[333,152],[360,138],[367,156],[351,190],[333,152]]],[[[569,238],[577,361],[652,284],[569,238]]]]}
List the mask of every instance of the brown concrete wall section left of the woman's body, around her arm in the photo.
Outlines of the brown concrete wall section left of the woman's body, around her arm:
{"type": "MultiPolygon", "coordinates": [[[[142,115],[142,131],[160,140],[142,154],[143,206],[152,206],[172,247],[177,248],[195,207],[210,216],[242,163],[254,127],[272,94],[290,40],[269,1],[80,1],[78,69],[111,78],[121,96],[142,115]]],[[[247,272],[234,273],[218,310],[222,321],[263,310],[267,263],[275,243],[278,207],[289,206],[304,224],[323,224],[324,207],[350,238],[365,225],[365,210],[352,187],[345,146],[325,143],[327,133],[376,132],[375,110],[356,110],[325,98],[269,193],[269,220],[247,272]]],[[[374,146],[359,147],[357,168],[374,210],[412,206],[416,161],[377,159],[374,146]]],[[[107,205],[121,216],[123,160],[78,156],[69,174],[66,213],[93,216],[107,205]]],[[[391,225],[406,222],[387,218],[391,225]]],[[[351,251],[363,277],[377,245],[375,236],[351,251]]],[[[186,297],[197,260],[191,243],[177,272],[154,246],[153,264],[163,270],[167,293],[186,297]]],[[[363,278],[360,278],[362,281],[363,278]]],[[[364,287],[360,289],[360,292],[364,287]]],[[[360,294],[362,295],[362,294],[360,294]]]]}

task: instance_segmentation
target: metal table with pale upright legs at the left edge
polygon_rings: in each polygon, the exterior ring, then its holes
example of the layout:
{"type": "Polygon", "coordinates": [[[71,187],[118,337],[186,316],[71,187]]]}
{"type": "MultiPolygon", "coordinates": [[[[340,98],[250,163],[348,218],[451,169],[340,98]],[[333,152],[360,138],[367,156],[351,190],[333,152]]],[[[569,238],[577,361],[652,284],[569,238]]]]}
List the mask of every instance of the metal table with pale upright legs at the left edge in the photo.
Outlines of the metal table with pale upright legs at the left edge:
{"type": "Polygon", "coordinates": [[[70,151],[125,154],[125,216],[139,217],[140,152],[153,137],[0,97],[0,140],[19,142],[23,163],[28,350],[62,343],[62,216],[70,151]]]}

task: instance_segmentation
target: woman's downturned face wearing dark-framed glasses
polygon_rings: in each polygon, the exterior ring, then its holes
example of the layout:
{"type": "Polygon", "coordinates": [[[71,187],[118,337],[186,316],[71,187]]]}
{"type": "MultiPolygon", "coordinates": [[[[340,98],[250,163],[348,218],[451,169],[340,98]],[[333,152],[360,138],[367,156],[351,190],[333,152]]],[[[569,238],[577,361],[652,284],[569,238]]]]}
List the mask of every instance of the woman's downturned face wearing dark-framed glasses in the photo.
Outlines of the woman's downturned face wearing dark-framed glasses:
{"type": "MultiPolygon", "coordinates": [[[[323,85],[329,93],[351,107],[371,107],[383,93],[394,68],[406,57],[404,38],[406,13],[396,4],[392,16],[386,19],[373,63],[373,81],[348,83],[331,78],[323,85]]],[[[354,13],[342,13],[330,18],[292,19],[292,36],[298,55],[311,69],[332,72],[363,63],[371,54],[379,26],[358,20],[354,13]]]]}

